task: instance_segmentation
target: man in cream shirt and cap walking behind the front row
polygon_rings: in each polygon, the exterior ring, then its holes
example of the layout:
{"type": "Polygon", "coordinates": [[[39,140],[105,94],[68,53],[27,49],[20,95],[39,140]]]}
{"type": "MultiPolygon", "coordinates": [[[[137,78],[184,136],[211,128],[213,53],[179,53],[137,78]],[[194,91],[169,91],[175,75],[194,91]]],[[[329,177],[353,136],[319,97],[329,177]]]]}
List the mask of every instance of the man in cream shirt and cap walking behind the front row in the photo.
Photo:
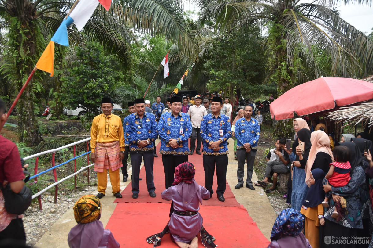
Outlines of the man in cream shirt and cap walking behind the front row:
{"type": "Polygon", "coordinates": [[[190,106],[188,110],[188,115],[190,116],[190,120],[192,123],[192,136],[190,139],[190,155],[193,154],[195,147],[195,140],[197,139],[197,149],[195,149],[195,153],[201,155],[201,143],[202,137],[200,134],[200,127],[201,127],[201,120],[204,115],[207,115],[206,108],[201,105],[201,96],[195,96],[194,101],[195,105],[190,106]]]}

